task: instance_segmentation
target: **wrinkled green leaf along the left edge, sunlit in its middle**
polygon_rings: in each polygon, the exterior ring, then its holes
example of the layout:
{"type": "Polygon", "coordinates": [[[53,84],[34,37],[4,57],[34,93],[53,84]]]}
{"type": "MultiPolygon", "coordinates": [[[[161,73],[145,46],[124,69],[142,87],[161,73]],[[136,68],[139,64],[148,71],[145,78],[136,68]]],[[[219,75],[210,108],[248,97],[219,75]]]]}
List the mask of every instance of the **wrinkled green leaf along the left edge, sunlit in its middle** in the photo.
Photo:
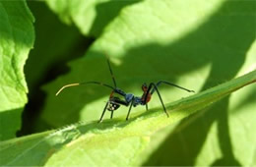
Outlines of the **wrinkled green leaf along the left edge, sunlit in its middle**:
{"type": "Polygon", "coordinates": [[[15,137],[28,88],[24,65],[32,49],[34,19],[25,1],[0,2],[0,140],[15,137]]]}

